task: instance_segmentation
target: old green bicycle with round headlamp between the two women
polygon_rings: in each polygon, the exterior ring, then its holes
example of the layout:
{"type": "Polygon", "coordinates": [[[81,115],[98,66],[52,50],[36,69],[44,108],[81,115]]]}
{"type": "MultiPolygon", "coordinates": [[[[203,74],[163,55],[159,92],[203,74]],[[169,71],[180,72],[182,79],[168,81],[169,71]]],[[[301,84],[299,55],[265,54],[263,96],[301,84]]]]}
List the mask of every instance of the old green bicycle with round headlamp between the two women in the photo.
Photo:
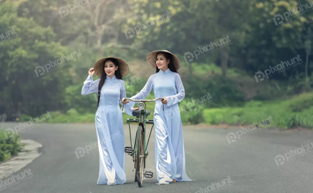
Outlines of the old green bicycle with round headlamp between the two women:
{"type": "MultiPolygon", "coordinates": [[[[130,118],[127,119],[127,123],[129,126],[130,139],[131,139],[131,126],[129,123],[130,122],[138,123],[134,149],[132,148],[132,145],[130,147],[125,147],[125,149],[124,149],[125,153],[132,156],[132,160],[133,160],[133,162],[135,162],[134,163],[134,169],[136,169],[136,171],[135,171],[135,182],[137,182],[139,187],[142,186],[143,176],[145,176],[146,178],[152,178],[153,177],[153,172],[146,171],[145,173],[143,173],[144,169],[146,168],[146,158],[149,154],[148,151],[146,153],[146,149],[147,149],[147,146],[149,143],[152,128],[154,126],[153,120],[146,119],[151,114],[151,112],[149,110],[146,110],[146,103],[145,102],[163,101],[163,100],[164,100],[163,98],[156,98],[153,100],[133,100],[131,98],[125,98],[125,101],[139,102],[137,105],[139,110],[133,111],[133,113],[132,113],[133,116],[136,116],[136,119],[130,119],[130,118]],[[146,132],[145,132],[146,131],[146,129],[145,129],[146,124],[152,124],[147,144],[146,144],[146,132]]],[[[124,109],[124,103],[123,103],[122,111],[123,111],[123,109],[124,109]]],[[[164,111],[164,104],[163,104],[163,111],[164,111]]]]}

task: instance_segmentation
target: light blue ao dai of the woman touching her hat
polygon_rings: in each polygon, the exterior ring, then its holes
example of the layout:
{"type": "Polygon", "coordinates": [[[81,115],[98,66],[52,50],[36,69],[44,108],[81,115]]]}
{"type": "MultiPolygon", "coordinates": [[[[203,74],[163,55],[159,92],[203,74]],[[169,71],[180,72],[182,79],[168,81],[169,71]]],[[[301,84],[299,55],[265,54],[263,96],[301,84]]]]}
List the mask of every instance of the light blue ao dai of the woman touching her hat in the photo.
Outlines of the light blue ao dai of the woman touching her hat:
{"type": "MultiPolygon", "coordinates": [[[[93,81],[92,76],[84,82],[81,94],[98,93],[99,81],[93,81]]],[[[125,82],[106,76],[105,83],[100,92],[99,107],[95,114],[98,147],[100,154],[100,168],[97,184],[124,184],[125,174],[125,140],[122,112],[119,104],[126,97],[125,82]]],[[[130,104],[125,104],[124,109],[132,116],[130,104]]]]}

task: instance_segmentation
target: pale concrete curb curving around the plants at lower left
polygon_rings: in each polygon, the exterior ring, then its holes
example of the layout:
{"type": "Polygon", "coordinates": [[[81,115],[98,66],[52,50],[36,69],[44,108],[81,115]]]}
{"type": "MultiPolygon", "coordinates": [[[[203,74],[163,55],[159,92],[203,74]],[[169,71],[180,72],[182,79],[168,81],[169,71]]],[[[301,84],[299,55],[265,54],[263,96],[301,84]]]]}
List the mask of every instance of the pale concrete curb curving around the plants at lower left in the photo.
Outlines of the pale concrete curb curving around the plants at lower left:
{"type": "Polygon", "coordinates": [[[42,147],[40,143],[30,139],[20,140],[20,143],[25,144],[24,151],[0,164],[0,179],[22,169],[42,154],[39,152],[39,148],[42,147]]]}

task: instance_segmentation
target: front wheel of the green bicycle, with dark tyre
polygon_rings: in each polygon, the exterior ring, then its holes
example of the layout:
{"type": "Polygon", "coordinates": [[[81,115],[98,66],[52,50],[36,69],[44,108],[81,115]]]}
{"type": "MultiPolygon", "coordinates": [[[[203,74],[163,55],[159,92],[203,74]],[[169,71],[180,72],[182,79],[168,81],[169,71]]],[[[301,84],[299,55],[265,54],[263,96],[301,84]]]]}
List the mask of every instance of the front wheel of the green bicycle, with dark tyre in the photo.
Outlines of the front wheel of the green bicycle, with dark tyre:
{"type": "Polygon", "coordinates": [[[143,160],[144,160],[144,134],[142,132],[142,126],[138,126],[137,139],[136,139],[136,174],[138,186],[142,186],[143,181],[143,160]]]}

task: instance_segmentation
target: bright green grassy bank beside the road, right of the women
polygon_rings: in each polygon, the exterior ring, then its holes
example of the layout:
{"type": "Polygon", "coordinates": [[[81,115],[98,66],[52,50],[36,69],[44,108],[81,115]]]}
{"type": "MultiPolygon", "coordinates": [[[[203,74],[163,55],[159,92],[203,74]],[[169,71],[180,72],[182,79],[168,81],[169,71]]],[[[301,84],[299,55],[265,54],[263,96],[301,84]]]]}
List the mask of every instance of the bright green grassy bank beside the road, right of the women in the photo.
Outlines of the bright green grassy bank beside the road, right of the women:
{"type": "Polygon", "coordinates": [[[290,129],[313,127],[313,93],[304,93],[286,101],[251,101],[244,107],[205,109],[207,124],[245,125],[271,117],[271,126],[290,129]]]}

